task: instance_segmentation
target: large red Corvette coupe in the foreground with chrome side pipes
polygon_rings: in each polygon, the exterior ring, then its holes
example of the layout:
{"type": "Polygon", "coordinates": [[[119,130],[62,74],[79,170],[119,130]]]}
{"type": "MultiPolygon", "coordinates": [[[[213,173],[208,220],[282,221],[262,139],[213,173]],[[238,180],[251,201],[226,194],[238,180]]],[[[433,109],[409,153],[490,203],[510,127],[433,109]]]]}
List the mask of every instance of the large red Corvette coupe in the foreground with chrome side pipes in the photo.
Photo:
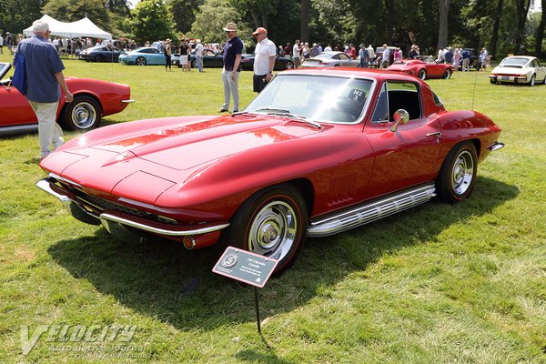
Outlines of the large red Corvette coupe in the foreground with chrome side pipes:
{"type": "Polygon", "coordinates": [[[417,77],[365,68],[281,72],[241,112],[106,126],[40,166],[77,219],[187,249],[217,241],[288,268],[307,237],[432,197],[454,203],[501,128],[447,111],[417,77]]]}

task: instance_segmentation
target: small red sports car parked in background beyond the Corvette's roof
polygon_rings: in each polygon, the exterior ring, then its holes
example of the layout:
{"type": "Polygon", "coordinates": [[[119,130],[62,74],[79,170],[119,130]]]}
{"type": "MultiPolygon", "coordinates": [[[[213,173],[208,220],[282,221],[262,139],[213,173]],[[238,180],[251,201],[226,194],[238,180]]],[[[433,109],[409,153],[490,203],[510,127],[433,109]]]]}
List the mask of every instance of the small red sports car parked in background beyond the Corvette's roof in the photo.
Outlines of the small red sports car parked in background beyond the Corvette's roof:
{"type": "Polygon", "coordinates": [[[427,78],[448,79],[453,74],[453,66],[450,64],[437,63],[432,56],[421,56],[417,59],[402,59],[396,61],[389,67],[389,71],[403,72],[408,75],[417,76],[424,80],[427,78]]]}

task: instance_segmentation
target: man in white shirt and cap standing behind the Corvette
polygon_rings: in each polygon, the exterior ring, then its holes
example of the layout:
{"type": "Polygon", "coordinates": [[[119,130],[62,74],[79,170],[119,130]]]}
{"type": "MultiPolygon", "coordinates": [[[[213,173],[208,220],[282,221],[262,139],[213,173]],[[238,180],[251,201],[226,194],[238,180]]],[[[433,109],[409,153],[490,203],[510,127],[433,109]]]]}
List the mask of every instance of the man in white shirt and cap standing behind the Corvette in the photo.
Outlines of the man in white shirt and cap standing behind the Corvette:
{"type": "Polygon", "coordinates": [[[277,46],[268,39],[266,28],[259,27],[252,35],[258,41],[254,52],[254,77],[252,84],[254,92],[258,92],[259,94],[273,78],[273,68],[275,67],[275,59],[277,58],[277,46]]]}

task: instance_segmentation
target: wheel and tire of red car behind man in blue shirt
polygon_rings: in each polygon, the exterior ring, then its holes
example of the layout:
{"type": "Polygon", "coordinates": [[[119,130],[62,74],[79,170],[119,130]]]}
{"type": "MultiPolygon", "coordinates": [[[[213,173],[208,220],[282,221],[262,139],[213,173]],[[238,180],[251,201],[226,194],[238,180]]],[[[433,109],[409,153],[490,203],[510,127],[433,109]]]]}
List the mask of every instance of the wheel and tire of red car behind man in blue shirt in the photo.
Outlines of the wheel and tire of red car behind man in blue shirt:
{"type": "Polygon", "coordinates": [[[101,116],[102,108],[95,98],[79,95],[63,106],[59,121],[68,130],[87,131],[98,126],[101,116]]]}

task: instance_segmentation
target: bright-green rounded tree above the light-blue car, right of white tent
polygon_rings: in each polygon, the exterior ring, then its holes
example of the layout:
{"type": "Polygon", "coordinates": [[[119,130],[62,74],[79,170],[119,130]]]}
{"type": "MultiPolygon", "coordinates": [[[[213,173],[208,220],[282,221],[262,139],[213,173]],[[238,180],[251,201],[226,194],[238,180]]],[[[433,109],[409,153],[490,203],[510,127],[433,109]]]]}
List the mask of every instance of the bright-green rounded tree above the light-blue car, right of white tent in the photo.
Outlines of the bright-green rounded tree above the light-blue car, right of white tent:
{"type": "Polygon", "coordinates": [[[136,43],[154,42],[175,35],[175,21],[163,0],[143,0],[132,12],[131,33],[136,43]]]}

